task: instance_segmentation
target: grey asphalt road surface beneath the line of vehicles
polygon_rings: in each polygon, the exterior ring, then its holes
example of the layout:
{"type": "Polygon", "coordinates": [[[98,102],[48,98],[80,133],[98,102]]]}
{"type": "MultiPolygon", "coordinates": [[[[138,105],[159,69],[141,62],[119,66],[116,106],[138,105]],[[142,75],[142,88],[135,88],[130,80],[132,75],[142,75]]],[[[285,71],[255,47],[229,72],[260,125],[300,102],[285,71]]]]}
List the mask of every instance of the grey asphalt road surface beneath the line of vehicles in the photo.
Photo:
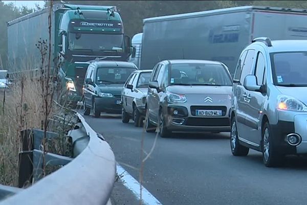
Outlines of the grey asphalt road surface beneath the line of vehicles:
{"type": "MultiPolygon", "coordinates": [[[[144,133],[132,121],[123,124],[120,118],[85,119],[102,133],[118,163],[138,180],[142,136],[148,153],[156,134],[144,133]]],[[[307,160],[302,157],[288,157],[281,168],[266,168],[259,152],[232,156],[229,133],[175,134],[158,137],[144,165],[143,186],[164,205],[306,204],[306,171],[307,160]]],[[[116,193],[118,200],[125,195],[116,193]]],[[[123,200],[116,204],[138,204],[129,197],[123,200]]]]}

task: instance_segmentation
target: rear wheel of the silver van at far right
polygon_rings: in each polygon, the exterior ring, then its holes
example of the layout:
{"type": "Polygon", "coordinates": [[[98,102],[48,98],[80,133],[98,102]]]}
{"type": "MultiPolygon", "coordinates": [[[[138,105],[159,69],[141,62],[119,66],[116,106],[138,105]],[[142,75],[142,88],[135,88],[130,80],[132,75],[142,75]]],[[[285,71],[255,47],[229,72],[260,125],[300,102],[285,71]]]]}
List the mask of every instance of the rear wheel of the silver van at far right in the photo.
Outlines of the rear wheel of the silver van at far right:
{"type": "Polygon", "coordinates": [[[249,148],[239,144],[238,131],[234,118],[231,119],[230,148],[234,156],[246,156],[249,152],[249,148]]]}

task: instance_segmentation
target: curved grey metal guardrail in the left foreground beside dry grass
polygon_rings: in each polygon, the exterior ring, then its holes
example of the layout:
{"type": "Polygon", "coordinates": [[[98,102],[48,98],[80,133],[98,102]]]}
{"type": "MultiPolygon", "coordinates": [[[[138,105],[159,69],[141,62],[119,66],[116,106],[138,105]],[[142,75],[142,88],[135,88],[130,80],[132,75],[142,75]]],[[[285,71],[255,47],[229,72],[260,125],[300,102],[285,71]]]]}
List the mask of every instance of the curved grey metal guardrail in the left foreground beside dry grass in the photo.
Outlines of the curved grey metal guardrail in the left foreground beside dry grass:
{"type": "MultiPolygon", "coordinates": [[[[75,158],[61,155],[46,155],[46,160],[63,168],[41,178],[27,189],[2,186],[0,194],[8,198],[0,201],[4,204],[46,204],[46,205],[75,205],[75,204],[111,204],[111,195],[116,175],[116,161],[111,147],[104,138],[97,134],[79,113],[76,113],[79,123],[68,135],[72,137],[75,158]],[[88,142],[88,143],[87,143],[88,142]],[[55,160],[56,159],[56,160],[55,160]],[[71,160],[73,159],[73,160],[71,160]],[[16,193],[13,196],[9,196],[16,193]]],[[[39,136],[39,131],[36,136],[39,136]]],[[[52,138],[56,133],[48,133],[52,138]]],[[[41,157],[39,137],[33,140],[32,159],[41,157]],[[35,142],[37,140],[37,142],[35,142]],[[38,146],[38,147],[37,147],[38,146]],[[38,149],[35,149],[38,148],[38,149]]],[[[29,151],[28,151],[29,152],[29,151]]],[[[33,171],[33,170],[32,170],[33,171]]],[[[39,173],[32,172],[33,178],[39,178],[39,173]]]]}

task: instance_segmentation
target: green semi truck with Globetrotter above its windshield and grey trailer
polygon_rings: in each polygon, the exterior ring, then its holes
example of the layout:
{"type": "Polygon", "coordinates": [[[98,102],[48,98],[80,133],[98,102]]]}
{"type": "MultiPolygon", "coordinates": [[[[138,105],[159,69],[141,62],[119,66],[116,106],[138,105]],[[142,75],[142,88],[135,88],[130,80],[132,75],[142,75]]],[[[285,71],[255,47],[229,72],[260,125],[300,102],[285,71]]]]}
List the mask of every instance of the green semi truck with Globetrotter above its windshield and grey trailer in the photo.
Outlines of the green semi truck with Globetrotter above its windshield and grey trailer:
{"type": "Polygon", "coordinates": [[[49,40],[49,13],[51,59],[61,61],[57,81],[68,90],[70,102],[76,105],[82,98],[89,62],[95,59],[127,61],[134,51],[131,39],[124,35],[123,22],[115,6],[55,4],[51,11],[46,8],[8,22],[10,68],[21,71],[29,67],[29,63],[33,69],[39,66],[41,55],[36,44],[49,40]]]}

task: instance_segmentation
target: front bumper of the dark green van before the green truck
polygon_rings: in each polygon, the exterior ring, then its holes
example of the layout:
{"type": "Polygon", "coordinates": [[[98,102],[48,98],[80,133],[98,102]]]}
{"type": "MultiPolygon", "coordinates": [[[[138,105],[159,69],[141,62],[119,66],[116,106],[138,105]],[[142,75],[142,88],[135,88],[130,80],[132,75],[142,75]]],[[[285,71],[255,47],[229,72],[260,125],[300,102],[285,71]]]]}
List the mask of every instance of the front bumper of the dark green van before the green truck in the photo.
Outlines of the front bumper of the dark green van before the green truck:
{"type": "Polygon", "coordinates": [[[121,113],[121,98],[119,97],[96,97],[96,108],[101,112],[121,113]],[[119,102],[119,103],[117,103],[119,102]]]}

